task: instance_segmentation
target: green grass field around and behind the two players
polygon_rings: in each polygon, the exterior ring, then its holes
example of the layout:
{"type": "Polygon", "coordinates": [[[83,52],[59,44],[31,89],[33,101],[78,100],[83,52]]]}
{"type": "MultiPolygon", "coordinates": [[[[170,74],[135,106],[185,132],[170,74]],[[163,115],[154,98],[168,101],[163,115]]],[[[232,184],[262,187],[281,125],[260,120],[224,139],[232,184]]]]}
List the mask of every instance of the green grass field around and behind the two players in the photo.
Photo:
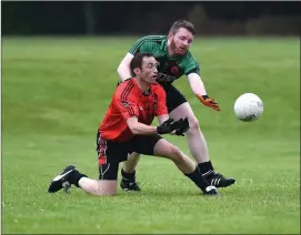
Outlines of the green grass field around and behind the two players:
{"type": "MultiPolygon", "coordinates": [[[[177,81],[218,172],[238,183],[203,197],[168,160],[142,156],[141,193],[72,187],[50,195],[68,163],[98,177],[96,131],[134,38],[2,39],[2,233],[300,233],[299,39],[219,38],[192,45],[214,112],[177,81]],[[258,94],[263,116],[243,123],[235,99],[258,94]]],[[[188,153],[185,139],[167,136],[188,153]]]]}

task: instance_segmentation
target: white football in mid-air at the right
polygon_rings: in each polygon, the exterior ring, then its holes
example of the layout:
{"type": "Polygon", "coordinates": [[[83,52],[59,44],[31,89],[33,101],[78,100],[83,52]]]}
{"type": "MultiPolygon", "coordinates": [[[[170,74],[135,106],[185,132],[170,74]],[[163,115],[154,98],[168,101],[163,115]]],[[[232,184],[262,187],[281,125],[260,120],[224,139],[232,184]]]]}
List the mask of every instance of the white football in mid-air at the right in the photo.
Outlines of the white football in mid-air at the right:
{"type": "Polygon", "coordinates": [[[253,93],[240,95],[234,103],[234,113],[238,119],[244,122],[253,122],[263,113],[261,99],[253,93]]]}

